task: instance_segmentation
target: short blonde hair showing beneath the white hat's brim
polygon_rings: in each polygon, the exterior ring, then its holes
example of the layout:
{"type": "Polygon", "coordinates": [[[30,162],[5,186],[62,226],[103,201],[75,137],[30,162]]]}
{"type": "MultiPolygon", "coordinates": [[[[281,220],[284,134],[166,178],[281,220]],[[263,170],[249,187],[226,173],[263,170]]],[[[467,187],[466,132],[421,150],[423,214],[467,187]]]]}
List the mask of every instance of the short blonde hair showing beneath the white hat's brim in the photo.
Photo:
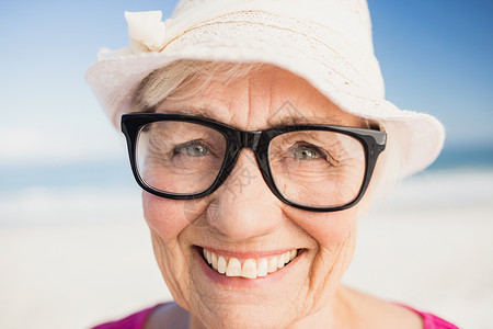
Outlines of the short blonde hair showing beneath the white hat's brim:
{"type": "MultiPolygon", "coordinates": [[[[134,97],[135,112],[153,112],[164,100],[185,100],[200,95],[211,81],[225,84],[237,79],[272,67],[263,63],[222,63],[181,59],[150,72],[137,88],[134,97]]],[[[364,122],[369,127],[368,120],[364,122]]],[[[379,156],[366,197],[381,200],[387,196],[400,181],[402,154],[397,140],[395,129],[399,126],[392,122],[378,122],[385,128],[388,138],[386,150],[379,156]]],[[[370,202],[371,203],[371,202],[370,202]]]]}

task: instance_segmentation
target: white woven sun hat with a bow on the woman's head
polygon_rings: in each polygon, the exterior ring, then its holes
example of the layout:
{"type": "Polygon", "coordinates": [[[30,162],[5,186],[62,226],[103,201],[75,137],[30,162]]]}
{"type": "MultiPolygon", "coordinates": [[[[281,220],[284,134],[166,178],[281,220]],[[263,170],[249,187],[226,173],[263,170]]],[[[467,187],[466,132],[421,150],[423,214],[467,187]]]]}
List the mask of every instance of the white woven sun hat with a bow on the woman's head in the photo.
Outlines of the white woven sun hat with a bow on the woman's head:
{"type": "Polygon", "coordinates": [[[341,110],[393,126],[401,177],[429,166],[443,148],[442,124],[385,99],[365,0],[181,0],[160,11],[126,12],[130,45],[101,49],[87,80],[115,127],[133,112],[135,90],[177,59],[266,63],[306,79],[341,110]]]}

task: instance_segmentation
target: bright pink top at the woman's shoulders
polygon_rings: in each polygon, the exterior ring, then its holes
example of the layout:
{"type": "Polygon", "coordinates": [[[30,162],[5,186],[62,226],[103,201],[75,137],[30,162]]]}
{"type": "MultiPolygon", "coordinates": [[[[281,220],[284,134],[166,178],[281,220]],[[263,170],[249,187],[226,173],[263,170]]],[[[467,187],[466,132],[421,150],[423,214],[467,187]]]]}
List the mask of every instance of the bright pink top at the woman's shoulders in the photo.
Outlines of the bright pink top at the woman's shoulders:
{"type": "MultiPolygon", "coordinates": [[[[92,329],[142,329],[144,325],[146,324],[146,320],[150,316],[150,314],[161,305],[163,305],[163,304],[158,304],[156,306],[142,309],[138,313],[129,315],[126,318],[123,318],[122,320],[116,320],[116,321],[95,326],[92,329]]],[[[424,329],[459,329],[459,327],[457,327],[437,316],[434,316],[431,313],[419,311],[409,306],[405,306],[405,305],[403,305],[403,306],[408,307],[409,309],[411,309],[422,316],[424,329]]]]}

